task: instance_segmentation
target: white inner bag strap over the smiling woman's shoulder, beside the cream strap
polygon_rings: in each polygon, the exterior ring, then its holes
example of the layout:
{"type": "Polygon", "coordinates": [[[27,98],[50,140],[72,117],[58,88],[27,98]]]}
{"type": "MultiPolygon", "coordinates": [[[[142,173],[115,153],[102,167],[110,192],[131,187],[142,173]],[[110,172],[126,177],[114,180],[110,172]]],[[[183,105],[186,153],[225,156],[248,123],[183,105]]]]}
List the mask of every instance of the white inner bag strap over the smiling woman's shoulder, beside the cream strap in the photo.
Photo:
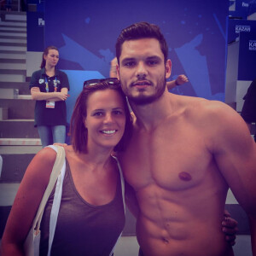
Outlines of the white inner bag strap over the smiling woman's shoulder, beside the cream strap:
{"type": "MultiPolygon", "coordinates": [[[[57,152],[56,146],[50,145],[49,148],[53,148],[57,152]]],[[[63,162],[63,166],[61,167],[61,173],[57,179],[57,183],[55,187],[55,197],[54,197],[54,201],[53,201],[53,205],[52,205],[50,217],[49,217],[49,245],[48,245],[48,254],[47,254],[48,256],[50,255],[53,238],[55,236],[55,227],[56,227],[57,218],[58,218],[60,205],[61,205],[62,184],[65,177],[65,172],[66,172],[65,150],[64,148],[62,148],[62,150],[64,151],[64,162],[63,162]]]]}

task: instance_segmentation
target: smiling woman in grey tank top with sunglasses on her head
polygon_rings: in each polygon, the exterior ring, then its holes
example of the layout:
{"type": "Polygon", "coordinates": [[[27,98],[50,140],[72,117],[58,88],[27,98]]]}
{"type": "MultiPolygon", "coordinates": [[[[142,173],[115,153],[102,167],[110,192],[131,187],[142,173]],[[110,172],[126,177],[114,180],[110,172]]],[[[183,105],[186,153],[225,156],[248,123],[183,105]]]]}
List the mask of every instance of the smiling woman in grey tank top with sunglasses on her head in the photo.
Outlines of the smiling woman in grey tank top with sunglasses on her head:
{"type": "MultiPolygon", "coordinates": [[[[111,154],[124,149],[131,127],[117,79],[113,84],[100,81],[80,93],[71,121],[73,145],[65,148],[67,169],[51,255],[111,253],[125,225],[119,170],[111,154]]],[[[3,234],[3,256],[22,255],[55,155],[52,148],[43,148],[28,166],[3,234]]],[[[47,255],[52,200],[53,195],[44,209],[40,255],[47,255]]]]}

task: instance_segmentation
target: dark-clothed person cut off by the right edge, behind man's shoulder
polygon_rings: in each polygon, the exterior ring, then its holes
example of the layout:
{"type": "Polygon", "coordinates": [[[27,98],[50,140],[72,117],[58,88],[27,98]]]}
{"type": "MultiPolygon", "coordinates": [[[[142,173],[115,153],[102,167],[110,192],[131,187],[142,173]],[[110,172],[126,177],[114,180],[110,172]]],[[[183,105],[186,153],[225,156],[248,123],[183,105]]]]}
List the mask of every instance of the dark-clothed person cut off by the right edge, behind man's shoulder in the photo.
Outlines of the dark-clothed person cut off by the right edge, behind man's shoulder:
{"type": "MultiPolygon", "coordinates": [[[[244,103],[241,109],[241,117],[246,121],[249,131],[252,130],[252,123],[256,123],[256,79],[250,84],[247,94],[243,97],[244,103]]],[[[256,129],[254,131],[256,143],[256,129]]]]}

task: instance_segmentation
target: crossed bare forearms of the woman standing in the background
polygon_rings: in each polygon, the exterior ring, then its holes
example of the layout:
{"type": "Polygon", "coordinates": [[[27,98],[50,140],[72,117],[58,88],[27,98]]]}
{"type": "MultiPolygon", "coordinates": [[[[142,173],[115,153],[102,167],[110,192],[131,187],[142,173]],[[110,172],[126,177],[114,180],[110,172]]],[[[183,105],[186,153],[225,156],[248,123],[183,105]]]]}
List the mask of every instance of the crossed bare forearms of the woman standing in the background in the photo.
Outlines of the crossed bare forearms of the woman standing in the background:
{"type": "Polygon", "coordinates": [[[67,88],[61,88],[61,92],[42,92],[39,87],[32,87],[31,95],[32,99],[36,101],[51,101],[51,102],[59,102],[67,100],[67,88]]]}

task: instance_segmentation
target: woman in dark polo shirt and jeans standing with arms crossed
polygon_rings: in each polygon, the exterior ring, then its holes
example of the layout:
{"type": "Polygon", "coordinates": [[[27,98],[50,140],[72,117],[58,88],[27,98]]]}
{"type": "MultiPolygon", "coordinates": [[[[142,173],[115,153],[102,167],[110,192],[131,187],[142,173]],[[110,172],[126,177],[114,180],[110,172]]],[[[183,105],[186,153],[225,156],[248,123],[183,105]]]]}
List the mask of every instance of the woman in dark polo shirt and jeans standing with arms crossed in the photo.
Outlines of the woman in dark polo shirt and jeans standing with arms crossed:
{"type": "Polygon", "coordinates": [[[35,126],[43,148],[53,143],[65,143],[69,83],[67,74],[55,68],[59,50],[55,46],[44,49],[41,69],[32,73],[30,90],[36,100],[35,126]]]}

